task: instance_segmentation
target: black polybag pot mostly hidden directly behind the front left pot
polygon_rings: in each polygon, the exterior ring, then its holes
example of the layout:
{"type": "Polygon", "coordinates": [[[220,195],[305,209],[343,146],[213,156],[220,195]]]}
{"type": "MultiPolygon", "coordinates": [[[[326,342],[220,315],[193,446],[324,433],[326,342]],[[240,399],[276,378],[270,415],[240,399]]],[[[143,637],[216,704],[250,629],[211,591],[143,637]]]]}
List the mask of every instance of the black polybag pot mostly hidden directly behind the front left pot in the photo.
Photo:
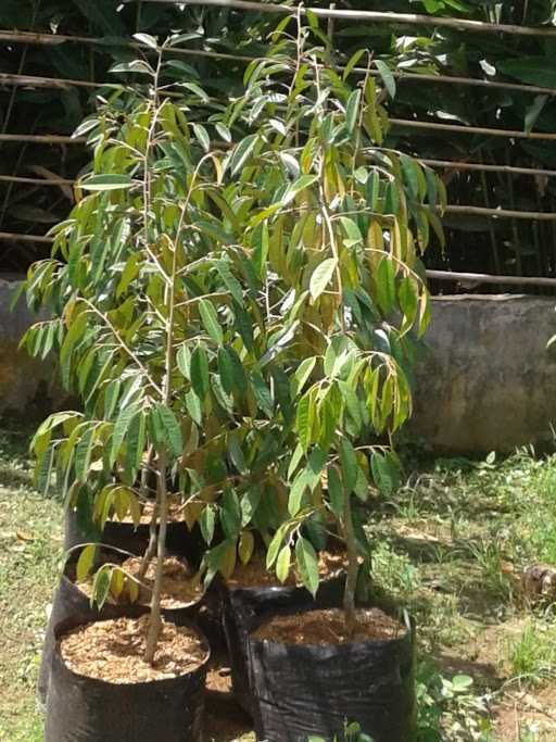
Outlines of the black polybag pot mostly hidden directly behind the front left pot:
{"type": "MultiPolygon", "coordinates": [[[[101,620],[103,618],[114,618],[122,613],[121,605],[104,603],[100,611],[91,606],[90,598],[73,580],[76,561],[77,554],[66,564],[64,573],[60,578],[45,632],[37,682],[37,696],[42,705],[47,701],[49,690],[55,644],[54,627],[74,615],[86,617],[88,620],[101,620]]],[[[144,606],[141,607],[144,609],[144,606]]],[[[220,594],[216,588],[208,588],[205,594],[192,605],[180,608],[162,608],[162,615],[166,620],[177,626],[188,626],[191,620],[194,620],[208,638],[212,649],[218,649],[224,643],[220,627],[220,594]]]]}

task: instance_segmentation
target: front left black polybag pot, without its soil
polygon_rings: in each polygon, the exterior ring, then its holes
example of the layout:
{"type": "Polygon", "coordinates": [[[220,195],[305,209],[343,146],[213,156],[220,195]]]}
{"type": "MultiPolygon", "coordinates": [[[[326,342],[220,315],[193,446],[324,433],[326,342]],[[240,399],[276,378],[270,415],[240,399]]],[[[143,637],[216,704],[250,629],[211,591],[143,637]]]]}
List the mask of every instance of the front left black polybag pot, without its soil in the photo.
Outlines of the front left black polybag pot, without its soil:
{"type": "MultiPolygon", "coordinates": [[[[144,608],[121,609],[138,617],[144,608]]],[[[58,624],[47,702],[45,742],[199,742],[208,663],[186,675],[138,683],[112,683],[77,675],[64,663],[60,638],[90,616],[58,624]]]]}

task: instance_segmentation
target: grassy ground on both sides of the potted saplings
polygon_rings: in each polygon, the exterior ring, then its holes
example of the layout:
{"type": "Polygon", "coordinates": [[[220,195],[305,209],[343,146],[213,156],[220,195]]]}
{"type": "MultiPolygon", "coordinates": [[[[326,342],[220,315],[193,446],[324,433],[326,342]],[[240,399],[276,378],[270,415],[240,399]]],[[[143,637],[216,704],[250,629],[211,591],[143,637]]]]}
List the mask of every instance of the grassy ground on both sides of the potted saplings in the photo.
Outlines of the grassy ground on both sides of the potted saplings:
{"type": "MultiPolygon", "coordinates": [[[[62,556],[61,506],[33,490],[27,432],[0,422],[7,742],[42,739],[35,682],[62,556]]],[[[527,605],[518,580],[529,564],[556,565],[556,457],[406,458],[415,474],[368,527],[375,580],[417,621],[418,742],[556,742],[556,617],[527,605]]]]}

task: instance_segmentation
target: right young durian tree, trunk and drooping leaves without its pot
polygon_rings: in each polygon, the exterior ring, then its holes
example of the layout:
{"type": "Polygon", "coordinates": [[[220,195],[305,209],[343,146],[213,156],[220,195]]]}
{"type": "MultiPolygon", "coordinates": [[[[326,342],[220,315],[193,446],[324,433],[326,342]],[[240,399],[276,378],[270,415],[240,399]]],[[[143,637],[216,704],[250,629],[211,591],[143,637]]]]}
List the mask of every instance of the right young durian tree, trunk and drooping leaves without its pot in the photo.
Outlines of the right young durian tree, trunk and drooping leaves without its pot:
{"type": "Polygon", "coordinates": [[[278,464],[288,517],[267,567],[283,581],[295,564],[315,594],[307,526],[336,521],[353,630],[359,562],[369,567],[371,549],[355,503],[390,493],[399,479],[391,438],[412,413],[415,339],[429,319],[418,254],[431,230],[443,239],[445,192],[432,171],[382,146],[382,103],[395,93],[388,66],[367,51],[343,70],[332,65],[327,37],[307,16],[306,27],[292,17],[278,26],[267,58],[248,67],[245,96],[227,123],[250,129],[237,148],[236,199],[249,200],[243,244],[275,338],[268,363],[288,379],[291,411],[282,414],[278,464]]]}

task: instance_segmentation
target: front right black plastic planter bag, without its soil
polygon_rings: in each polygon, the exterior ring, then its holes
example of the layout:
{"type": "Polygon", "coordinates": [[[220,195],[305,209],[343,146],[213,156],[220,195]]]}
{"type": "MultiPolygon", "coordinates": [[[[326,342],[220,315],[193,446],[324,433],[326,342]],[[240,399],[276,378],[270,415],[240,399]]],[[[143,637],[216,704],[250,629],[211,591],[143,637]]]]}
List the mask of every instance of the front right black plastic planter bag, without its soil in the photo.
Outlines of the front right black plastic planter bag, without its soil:
{"type": "Polygon", "coordinates": [[[355,721],[374,742],[414,742],[414,637],[409,628],[397,639],[311,646],[250,636],[257,739],[331,741],[355,721]]]}

